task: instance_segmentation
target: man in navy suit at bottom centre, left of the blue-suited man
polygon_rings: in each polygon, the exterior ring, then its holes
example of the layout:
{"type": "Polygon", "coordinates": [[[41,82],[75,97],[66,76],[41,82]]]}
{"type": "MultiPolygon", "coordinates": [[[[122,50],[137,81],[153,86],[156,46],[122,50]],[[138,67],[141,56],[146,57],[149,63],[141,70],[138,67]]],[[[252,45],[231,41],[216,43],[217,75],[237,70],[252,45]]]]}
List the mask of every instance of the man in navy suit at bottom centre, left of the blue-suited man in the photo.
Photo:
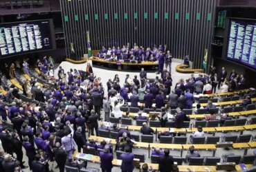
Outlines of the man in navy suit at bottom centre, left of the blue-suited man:
{"type": "Polygon", "coordinates": [[[113,154],[109,152],[109,147],[104,147],[104,151],[100,151],[100,168],[102,172],[111,172],[113,154]]]}

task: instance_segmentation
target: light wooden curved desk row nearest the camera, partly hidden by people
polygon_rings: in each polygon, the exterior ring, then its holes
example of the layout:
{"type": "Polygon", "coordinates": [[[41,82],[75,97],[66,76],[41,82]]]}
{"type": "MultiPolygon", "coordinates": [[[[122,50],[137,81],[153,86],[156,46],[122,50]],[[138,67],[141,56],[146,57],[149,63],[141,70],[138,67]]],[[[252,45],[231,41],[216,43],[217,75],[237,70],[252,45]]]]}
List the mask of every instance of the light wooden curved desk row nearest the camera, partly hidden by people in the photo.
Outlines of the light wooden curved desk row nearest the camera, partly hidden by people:
{"type": "MultiPolygon", "coordinates": [[[[89,162],[93,163],[98,163],[100,164],[100,157],[98,155],[91,155],[91,154],[84,154],[84,153],[75,153],[74,158],[77,158],[79,160],[86,160],[89,162]]],[[[138,167],[142,166],[143,164],[147,164],[148,166],[151,166],[153,170],[157,171],[158,170],[158,164],[153,164],[153,163],[147,163],[147,162],[141,162],[139,163],[138,159],[134,159],[135,163],[138,163],[138,167]]],[[[118,159],[113,159],[112,160],[113,166],[121,166],[122,160],[118,159]]],[[[252,164],[246,164],[246,168],[252,167],[252,164]]],[[[217,166],[195,166],[195,165],[178,165],[178,169],[180,172],[190,172],[190,171],[200,171],[200,172],[214,172],[217,171],[217,166]]],[[[235,165],[235,171],[242,171],[241,166],[235,165]]]]}

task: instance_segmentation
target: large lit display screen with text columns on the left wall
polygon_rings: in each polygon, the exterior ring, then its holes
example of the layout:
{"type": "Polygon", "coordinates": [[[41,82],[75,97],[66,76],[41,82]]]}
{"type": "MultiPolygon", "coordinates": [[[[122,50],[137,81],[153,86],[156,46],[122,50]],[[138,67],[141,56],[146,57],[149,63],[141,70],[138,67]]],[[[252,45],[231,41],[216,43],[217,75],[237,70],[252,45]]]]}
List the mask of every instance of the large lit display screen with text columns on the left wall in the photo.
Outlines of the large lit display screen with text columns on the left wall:
{"type": "Polygon", "coordinates": [[[0,56],[55,48],[52,20],[0,24],[0,56]]]}

